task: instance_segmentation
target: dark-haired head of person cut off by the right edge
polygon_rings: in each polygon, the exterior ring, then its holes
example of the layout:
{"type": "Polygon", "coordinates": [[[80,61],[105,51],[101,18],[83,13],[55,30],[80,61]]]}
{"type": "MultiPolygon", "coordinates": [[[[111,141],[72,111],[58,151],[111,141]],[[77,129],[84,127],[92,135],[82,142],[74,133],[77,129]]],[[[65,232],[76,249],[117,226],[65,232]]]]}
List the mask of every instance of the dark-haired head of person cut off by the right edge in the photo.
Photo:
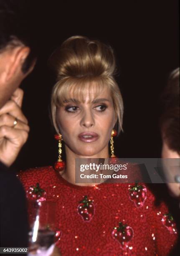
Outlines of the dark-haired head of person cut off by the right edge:
{"type": "MultiPolygon", "coordinates": [[[[160,130],[162,135],[162,158],[180,158],[180,69],[175,69],[162,93],[162,115],[160,130]]],[[[175,164],[176,165],[176,164],[175,164]]],[[[180,177],[179,166],[164,166],[167,180],[177,182],[180,177]]],[[[180,196],[180,184],[167,183],[172,195],[180,196]]]]}

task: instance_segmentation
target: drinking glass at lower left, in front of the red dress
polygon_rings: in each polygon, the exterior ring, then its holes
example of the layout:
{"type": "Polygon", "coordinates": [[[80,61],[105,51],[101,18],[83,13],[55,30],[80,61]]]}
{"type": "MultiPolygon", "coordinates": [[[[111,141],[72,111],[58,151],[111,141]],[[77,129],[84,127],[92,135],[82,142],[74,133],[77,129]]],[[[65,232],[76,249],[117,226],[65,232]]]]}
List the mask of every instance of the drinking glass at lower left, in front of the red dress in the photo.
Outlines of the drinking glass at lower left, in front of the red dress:
{"type": "Polygon", "coordinates": [[[61,255],[56,241],[59,238],[56,202],[46,200],[46,192],[39,187],[31,187],[28,197],[30,231],[28,256],[61,255]]]}

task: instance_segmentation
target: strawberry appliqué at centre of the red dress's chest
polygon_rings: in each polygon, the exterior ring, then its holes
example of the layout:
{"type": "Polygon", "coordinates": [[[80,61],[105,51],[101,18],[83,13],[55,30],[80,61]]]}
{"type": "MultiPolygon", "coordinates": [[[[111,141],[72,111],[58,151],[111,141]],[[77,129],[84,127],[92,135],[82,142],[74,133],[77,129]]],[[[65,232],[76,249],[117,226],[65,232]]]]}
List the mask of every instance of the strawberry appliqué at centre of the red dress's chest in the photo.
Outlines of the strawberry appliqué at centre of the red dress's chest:
{"type": "Polygon", "coordinates": [[[77,210],[84,221],[91,221],[95,211],[93,200],[88,199],[88,197],[85,195],[83,200],[79,202],[77,210]]]}

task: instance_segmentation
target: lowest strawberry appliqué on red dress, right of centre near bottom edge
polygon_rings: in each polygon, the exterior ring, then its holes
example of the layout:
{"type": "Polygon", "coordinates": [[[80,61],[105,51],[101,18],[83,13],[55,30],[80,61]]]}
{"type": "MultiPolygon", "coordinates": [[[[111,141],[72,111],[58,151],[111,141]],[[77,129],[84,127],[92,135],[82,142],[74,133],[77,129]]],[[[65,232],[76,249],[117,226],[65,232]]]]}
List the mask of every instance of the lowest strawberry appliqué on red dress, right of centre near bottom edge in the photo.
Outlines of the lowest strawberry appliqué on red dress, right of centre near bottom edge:
{"type": "Polygon", "coordinates": [[[123,250],[128,248],[128,243],[133,238],[133,234],[133,229],[122,222],[119,222],[119,226],[114,227],[112,231],[112,237],[119,242],[123,250]]]}

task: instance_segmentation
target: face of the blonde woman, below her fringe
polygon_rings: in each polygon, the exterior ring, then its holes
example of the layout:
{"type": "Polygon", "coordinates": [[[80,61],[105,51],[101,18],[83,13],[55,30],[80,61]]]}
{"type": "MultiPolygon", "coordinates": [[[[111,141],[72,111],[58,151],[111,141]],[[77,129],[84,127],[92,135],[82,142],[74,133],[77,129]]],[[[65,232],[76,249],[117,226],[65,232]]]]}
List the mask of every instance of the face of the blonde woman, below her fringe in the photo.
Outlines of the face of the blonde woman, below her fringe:
{"type": "Polygon", "coordinates": [[[57,108],[56,122],[65,146],[76,155],[95,158],[108,148],[117,119],[108,87],[98,97],[91,88],[86,92],[84,102],[69,95],[64,105],[57,108]]]}

